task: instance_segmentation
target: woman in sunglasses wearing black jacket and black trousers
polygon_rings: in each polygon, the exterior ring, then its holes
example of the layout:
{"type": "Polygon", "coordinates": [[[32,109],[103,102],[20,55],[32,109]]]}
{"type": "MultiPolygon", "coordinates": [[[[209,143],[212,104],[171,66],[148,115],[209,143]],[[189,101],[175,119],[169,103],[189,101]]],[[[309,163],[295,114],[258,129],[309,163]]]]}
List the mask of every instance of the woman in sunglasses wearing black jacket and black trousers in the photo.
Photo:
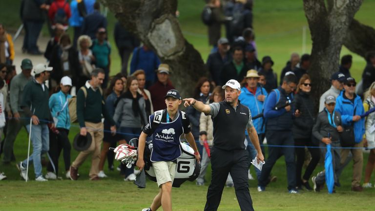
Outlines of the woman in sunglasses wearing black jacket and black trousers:
{"type": "Polygon", "coordinates": [[[312,142],[312,127],[315,124],[316,116],[314,114],[314,101],[311,92],[311,79],[308,74],[304,74],[297,85],[297,94],[295,95],[295,116],[293,124],[293,137],[295,148],[296,160],[296,185],[297,189],[302,190],[302,185],[307,190],[312,190],[309,185],[309,178],[312,175],[312,171],[319,163],[320,150],[315,143],[312,142]],[[311,161],[305,170],[305,174],[302,175],[302,166],[305,162],[305,146],[311,153],[311,161]]]}

